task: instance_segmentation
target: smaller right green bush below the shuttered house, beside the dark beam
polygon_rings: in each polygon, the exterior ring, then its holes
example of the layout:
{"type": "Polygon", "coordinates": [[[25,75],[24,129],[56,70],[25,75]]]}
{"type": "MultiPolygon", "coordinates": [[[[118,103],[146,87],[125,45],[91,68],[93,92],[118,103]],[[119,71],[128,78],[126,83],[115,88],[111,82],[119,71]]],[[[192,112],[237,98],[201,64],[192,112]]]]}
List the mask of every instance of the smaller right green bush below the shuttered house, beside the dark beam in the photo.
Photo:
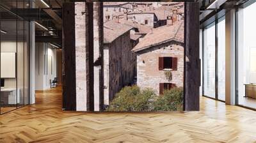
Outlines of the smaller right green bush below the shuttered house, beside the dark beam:
{"type": "Polygon", "coordinates": [[[183,89],[175,87],[168,91],[164,91],[163,95],[159,95],[154,102],[155,111],[181,111],[183,110],[183,89]]]}

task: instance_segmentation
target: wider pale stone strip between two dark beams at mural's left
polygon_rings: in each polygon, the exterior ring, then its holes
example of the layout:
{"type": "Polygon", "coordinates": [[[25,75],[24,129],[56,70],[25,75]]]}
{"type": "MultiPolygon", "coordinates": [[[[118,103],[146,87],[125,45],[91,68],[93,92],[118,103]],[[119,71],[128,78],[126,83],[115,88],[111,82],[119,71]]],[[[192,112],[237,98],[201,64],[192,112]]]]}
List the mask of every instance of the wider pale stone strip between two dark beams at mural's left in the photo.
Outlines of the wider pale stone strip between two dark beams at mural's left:
{"type": "Polygon", "coordinates": [[[86,4],[75,3],[76,31],[76,110],[87,110],[88,58],[86,50],[86,4]]]}

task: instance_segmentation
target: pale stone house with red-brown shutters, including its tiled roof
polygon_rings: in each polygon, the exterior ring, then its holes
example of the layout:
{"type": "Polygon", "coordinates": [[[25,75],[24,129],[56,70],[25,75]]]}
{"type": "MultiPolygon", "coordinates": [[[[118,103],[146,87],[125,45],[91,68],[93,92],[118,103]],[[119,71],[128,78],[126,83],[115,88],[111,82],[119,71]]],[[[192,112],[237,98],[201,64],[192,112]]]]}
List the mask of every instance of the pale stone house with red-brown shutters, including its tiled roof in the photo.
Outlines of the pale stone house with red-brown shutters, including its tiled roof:
{"type": "Polygon", "coordinates": [[[164,89],[183,87],[184,21],[154,29],[132,49],[137,54],[137,85],[156,94],[164,89]],[[165,72],[172,73],[172,79],[165,72]]]}

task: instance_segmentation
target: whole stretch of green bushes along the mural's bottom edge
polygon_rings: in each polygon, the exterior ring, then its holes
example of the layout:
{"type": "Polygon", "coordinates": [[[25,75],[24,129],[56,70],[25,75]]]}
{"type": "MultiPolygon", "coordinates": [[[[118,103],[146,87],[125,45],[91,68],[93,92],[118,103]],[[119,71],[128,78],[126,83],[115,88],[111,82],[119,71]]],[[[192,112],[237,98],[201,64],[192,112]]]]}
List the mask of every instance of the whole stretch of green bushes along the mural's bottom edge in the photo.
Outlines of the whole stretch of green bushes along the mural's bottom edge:
{"type": "Polygon", "coordinates": [[[183,89],[175,87],[156,96],[152,89],[140,90],[138,86],[126,86],[115,98],[106,111],[182,111],[183,89]]]}

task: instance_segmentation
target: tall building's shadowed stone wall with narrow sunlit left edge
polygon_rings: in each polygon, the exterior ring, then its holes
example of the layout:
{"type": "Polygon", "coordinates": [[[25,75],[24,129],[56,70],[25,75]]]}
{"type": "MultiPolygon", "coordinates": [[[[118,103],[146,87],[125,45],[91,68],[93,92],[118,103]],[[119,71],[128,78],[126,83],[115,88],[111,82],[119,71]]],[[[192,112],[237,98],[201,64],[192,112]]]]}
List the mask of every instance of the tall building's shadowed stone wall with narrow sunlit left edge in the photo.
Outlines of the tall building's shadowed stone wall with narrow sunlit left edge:
{"type": "Polygon", "coordinates": [[[104,104],[108,105],[122,87],[128,86],[136,73],[136,55],[131,52],[130,32],[104,44],[104,104]]]}

